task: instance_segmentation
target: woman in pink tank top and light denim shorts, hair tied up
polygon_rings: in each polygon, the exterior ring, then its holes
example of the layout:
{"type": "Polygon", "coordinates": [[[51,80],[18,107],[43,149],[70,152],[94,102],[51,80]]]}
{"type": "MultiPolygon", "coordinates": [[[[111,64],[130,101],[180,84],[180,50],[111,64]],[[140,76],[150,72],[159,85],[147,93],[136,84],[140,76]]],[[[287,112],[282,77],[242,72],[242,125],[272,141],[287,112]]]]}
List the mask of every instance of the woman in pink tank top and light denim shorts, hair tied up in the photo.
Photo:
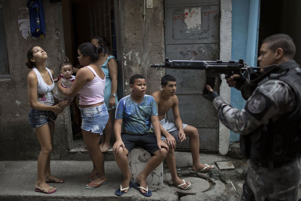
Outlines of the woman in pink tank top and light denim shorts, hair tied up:
{"type": "Polygon", "coordinates": [[[64,88],[58,82],[59,90],[67,97],[80,94],[80,111],[82,118],[82,133],[85,144],[91,155],[97,170],[97,178],[86,185],[88,189],[94,189],[105,183],[107,178],[104,173],[104,156],[99,149],[99,140],[106,126],[109,115],[104,104],[105,75],[95,62],[98,60],[98,52],[91,43],[83,43],[78,47],[78,61],[81,66],[76,73],[75,80],[70,88],[64,88]]]}

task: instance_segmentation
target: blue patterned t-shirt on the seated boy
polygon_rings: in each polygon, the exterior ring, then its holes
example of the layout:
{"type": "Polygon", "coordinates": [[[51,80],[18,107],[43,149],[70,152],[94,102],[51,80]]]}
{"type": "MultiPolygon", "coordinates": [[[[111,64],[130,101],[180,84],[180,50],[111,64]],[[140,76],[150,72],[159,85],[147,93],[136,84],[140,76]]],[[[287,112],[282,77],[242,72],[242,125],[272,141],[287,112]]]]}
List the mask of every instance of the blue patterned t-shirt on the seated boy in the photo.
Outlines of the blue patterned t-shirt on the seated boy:
{"type": "Polygon", "coordinates": [[[151,116],[158,116],[156,100],[151,95],[144,95],[139,104],[127,95],[121,98],[115,113],[115,119],[123,119],[123,132],[131,135],[153,132],[150,127],[151,116]]]}

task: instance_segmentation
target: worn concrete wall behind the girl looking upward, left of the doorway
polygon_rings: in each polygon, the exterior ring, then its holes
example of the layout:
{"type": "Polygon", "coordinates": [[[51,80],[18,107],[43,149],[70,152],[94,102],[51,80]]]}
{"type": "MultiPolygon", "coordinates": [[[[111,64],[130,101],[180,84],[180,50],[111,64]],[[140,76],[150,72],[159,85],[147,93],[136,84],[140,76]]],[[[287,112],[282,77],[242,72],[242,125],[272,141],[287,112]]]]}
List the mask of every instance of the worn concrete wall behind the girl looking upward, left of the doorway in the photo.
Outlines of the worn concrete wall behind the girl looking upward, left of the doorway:
{"type": "MultiPolygon", "coordinates": [[[[31,38],[26,20],[29,19],[27,1],[4,0],[4,20],[12,79],[0,80],[0,160],[37,159],[40,144],[28,122],[29,101],[25,65],[30,47],[38,45],[48,53],[47,67],[59,73],[64,58],[60,3],[42,1],[46,19],[46,37],[31,38]]],[[[56,121],[52,157],[58,159],[67,151],[68,110],[56,121]]]]}

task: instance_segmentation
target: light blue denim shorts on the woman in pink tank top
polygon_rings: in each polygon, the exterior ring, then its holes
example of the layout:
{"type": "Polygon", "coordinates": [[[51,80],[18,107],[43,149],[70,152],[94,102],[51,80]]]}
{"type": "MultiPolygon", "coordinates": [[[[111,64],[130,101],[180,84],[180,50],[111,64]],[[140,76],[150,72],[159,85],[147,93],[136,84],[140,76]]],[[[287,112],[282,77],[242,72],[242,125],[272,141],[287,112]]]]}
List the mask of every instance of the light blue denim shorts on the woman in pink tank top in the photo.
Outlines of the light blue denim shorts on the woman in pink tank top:
{"type": "Polygon", "coordinates": [[[80,108],[80,112],[82,118],[81,129],[102,135],[102,131],[109,119],[105,104],[92,108],[80,108]]]}

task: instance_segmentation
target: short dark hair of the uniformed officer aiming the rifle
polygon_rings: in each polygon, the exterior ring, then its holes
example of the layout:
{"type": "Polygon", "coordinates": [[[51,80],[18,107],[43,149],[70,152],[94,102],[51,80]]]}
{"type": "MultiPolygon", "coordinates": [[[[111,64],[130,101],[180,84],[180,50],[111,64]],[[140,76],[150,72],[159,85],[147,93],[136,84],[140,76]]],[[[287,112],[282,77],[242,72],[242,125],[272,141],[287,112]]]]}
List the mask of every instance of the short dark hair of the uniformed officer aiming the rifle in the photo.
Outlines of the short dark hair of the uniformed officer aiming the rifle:
{"type": "Polygon", "coordinates": [[[267,43],[267,47],[272,52],[275,52],[277,48],[281,48],[283,50],[283,54],[288,59],[293,59],[296,52],[296,46],[293,43],[292,38],[286,34],[275,34],[269,36],[262,41],[262,44],[263,43],[267,43]]]}

